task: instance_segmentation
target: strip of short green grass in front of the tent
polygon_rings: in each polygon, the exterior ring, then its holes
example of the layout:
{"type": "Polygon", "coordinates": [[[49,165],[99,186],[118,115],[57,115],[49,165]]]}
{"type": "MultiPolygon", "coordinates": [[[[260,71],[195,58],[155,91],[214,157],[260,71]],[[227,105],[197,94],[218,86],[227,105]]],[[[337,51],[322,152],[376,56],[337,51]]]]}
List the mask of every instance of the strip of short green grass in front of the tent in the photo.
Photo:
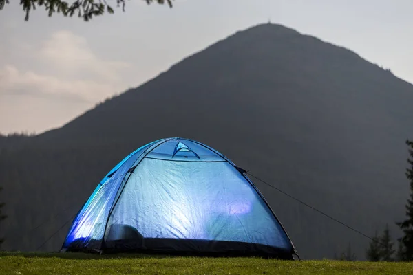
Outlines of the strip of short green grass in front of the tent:
{"type": "Polygon", "coordinates": [[[413,274],[413,263],[1,252],[0,274],[413,274]]]}

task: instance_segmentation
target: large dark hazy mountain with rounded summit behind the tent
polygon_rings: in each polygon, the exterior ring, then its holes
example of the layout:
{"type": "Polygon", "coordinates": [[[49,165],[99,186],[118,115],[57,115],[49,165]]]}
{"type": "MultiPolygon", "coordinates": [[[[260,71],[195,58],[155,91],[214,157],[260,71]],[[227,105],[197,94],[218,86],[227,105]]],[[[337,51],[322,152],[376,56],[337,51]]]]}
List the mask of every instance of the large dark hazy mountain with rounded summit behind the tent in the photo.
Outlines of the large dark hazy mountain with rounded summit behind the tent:
{"type": "MultiPolygon", "coordinates": [[[[36,250],[51,236],[40,250],[58,250],[120,159],[177,136],[372,235],[404,216],[411,102],[413,85],[343,47],[275,24],[237,32],[60,129],[1,142],[2,248],[36,250]]],[[[350,242],[363,259],[368,239],[254,182],[302,257],[350,242]]]]}

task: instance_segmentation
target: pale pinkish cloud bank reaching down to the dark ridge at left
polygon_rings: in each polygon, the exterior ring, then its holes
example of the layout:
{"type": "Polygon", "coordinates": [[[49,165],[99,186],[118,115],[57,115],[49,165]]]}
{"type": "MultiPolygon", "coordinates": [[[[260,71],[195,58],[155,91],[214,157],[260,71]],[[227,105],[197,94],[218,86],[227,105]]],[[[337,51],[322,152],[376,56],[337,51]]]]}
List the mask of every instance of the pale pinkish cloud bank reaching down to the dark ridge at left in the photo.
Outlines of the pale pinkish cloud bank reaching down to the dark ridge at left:
{"type": "Polygon", "coordinates": [[[19,58],[27,62],[14,63],[15,58],[8,63],[0,61],[0,132],[39,132],[61,126],[74,115],[132,84],[125,81],[125,72],[133,69],[129,63],[97,56],[87,39],[72,32],[61,30],[39,45],[21,46],[25,50],[20,51],[19,58]],[[29,106],[31,104],[41,108],[29,106]],[[59,106],[59,110],[55,106],[59,106]],[[21,111],[29,109],[30,112],[21,111]],[[29,115],[31,118],[26,117],[29,115]],[[59,117],[59,122],[50,119],[41,122],[54,115],[59,117]],[[21,123],[13,124],[10,118],[21,123]],[[39,118],[34,129],[33,118],[39,118]],[[22,129],[25,122],[28,124],[22,129]]]}

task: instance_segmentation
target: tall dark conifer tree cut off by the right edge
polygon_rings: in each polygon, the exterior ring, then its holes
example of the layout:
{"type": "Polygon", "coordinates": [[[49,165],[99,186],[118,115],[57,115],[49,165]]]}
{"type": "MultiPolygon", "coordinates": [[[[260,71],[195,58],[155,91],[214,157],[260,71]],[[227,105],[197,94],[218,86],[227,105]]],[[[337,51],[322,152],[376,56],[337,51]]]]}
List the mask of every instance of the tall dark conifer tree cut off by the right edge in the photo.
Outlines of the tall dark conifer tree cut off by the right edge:
{"type": "Polygon", "coordinates": [[[410,157],[407,159],[409,167],[406,169],[406,177],[410,181],[410,198],[407,199],[406,216],[407,219],[396,223],[403,230],[404,236],[401,238],[403,245],[403,259],[413,261],[413,141],[407,140],[410,157]]]}

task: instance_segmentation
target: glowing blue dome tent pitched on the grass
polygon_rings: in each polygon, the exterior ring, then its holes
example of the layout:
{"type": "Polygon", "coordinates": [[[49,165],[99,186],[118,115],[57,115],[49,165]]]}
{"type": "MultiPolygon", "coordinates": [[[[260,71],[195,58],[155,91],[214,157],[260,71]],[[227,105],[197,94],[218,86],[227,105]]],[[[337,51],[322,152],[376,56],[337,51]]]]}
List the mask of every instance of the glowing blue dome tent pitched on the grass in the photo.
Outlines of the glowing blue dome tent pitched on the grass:
{"type": "Polygon", "coordinates": [[[74,218],[61,251],[297,255],[244,170],[178,137],[142,146],[116,165],[74,218]]]}

